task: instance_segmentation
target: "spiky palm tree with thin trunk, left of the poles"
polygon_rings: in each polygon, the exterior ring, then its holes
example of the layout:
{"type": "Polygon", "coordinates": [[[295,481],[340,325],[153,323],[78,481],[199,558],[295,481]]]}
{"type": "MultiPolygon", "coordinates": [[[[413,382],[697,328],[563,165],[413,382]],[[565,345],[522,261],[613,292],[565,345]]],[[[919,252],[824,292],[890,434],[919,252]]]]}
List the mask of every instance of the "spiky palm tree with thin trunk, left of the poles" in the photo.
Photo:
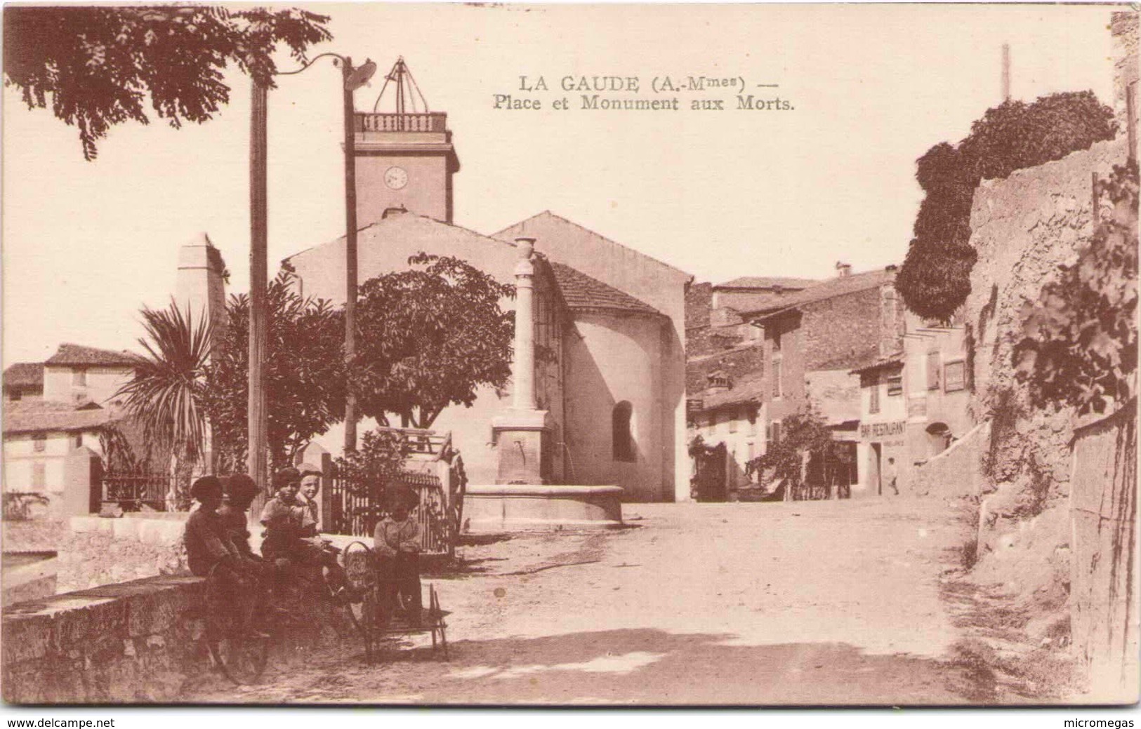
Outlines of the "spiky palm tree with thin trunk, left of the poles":
{"type": "Polygon", "coordinates": [[[167,494],[168,509],[189,507],[189,477],[205,451],[207,418],[202,404],[212,326],[203,316],[196,324],[171,301],[165,309],[143,311],[146,350],[131,379],[115,397],[135,418],[148,452],[169,453],[175,477],[167,494]]]}

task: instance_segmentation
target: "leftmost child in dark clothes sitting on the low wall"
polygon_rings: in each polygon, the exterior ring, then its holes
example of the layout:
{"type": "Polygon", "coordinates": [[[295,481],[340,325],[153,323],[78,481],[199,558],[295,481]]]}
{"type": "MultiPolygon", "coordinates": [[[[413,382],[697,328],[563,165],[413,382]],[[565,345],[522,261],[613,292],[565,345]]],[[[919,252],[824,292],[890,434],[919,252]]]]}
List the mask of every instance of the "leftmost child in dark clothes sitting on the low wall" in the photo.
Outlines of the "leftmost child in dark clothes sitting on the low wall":
{"type": "Polygon", "coordinates": [[[199,508],[186,520],[186,559],[195,575],[219,581],[220,600],[225,604],[209,608],[233,610],[236,607],[238,614],[233,617],[241,629],[256,637],[264,637],[251,624],[256,594],[250,570],[243,564],[238,549],[226,535],[218,513],[218,507],[222,502],[221,481],[213,476],[203,476],[191,486],[191,496],[199,502],[199,508]]]}

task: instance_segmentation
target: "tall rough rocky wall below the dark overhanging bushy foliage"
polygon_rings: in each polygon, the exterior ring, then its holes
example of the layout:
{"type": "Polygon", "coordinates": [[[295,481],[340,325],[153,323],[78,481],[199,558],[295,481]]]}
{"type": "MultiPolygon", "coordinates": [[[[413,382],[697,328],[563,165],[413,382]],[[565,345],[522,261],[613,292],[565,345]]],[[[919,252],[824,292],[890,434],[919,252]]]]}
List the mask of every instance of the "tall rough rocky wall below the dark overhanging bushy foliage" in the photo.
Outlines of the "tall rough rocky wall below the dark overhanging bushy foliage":
{"type": "MultiPolygon", "coordinates": [[[[1076,259],[1093,233],[1093,176],[1109,175],[1125,159],[1123,139],[1103,141],[1006,179],[985,180],[974,193],[971,244],[978,262],[964,306],[972,342],[971,410],[977,421],[992,421],[984,454],[990,521],[980,525],[980,546],[1002,536],[987,528],[1010,530],[1018,519],[1069,496],[1073,413],[1030,407],[1012,354],[1021,339],[1023,305],[1037,299],[1059,265],[1076,259]]],[[[1068,538],[1059,534],[1061,542],[1068,538]]]]}

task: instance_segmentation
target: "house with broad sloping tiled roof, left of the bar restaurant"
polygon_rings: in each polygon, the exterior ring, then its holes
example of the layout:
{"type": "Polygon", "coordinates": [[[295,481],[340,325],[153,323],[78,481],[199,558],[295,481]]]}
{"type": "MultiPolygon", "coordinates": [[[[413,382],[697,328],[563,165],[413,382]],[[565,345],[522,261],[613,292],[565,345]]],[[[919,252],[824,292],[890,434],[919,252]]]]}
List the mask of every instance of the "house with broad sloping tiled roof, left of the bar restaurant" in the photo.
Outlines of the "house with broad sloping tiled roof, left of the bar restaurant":
{"type": "Polygon", "coordinates": [[[858,462],[860,388],[852,370],[901,348],[905,313],[895,290],[896,267],[839,275],[784,300],[752,319],[763,330],[767,370],[764,432],[782,438],[782,421],[818,413],[841,445],[822,463],[823,477],[852,495],[867,491],[858,462]]]}

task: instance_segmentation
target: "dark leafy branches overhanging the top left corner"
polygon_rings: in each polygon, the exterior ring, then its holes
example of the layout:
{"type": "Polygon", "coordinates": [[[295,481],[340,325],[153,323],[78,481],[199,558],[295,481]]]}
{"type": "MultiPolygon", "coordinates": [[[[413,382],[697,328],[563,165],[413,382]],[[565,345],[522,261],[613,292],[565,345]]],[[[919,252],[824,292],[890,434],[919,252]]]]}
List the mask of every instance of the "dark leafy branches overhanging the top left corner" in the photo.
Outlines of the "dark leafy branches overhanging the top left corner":
{"type": "Polygon", "coordinates": [[[220,6],[47,7],[3,9],[5,86],[30,108],[47,106],[79,127],[83,156],[114,124],[149,123],[146,96],[175,128],[204,122],[229,102],[230,62],[272,87],[278,43],[294,59],[332,35],[329,17],[298,9],[229,10],[220,6]]]}

